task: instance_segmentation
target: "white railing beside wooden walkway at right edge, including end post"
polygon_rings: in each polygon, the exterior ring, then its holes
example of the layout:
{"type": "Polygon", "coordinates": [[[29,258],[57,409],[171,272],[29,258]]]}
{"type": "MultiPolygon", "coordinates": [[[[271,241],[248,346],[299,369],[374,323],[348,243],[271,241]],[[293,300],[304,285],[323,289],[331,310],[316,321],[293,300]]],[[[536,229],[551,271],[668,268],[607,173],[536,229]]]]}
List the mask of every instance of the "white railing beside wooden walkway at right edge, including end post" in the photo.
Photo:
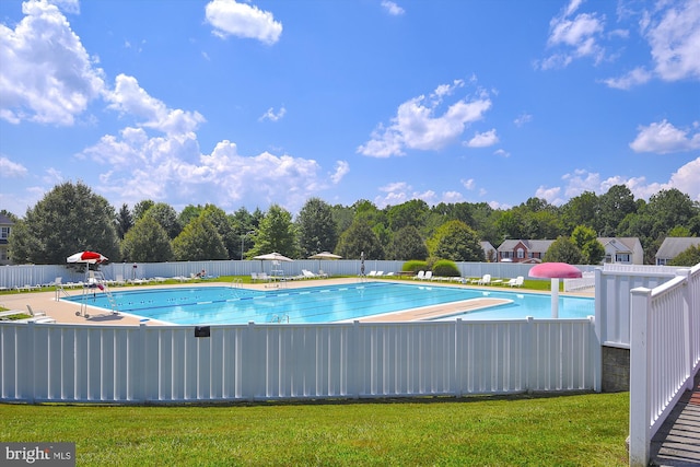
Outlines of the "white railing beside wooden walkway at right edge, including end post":
{"type": "Polygon", "coordinates": [[[629,460],[646,466],[652,437],[700,370],[700,265],[630,294],[629,460]]]}

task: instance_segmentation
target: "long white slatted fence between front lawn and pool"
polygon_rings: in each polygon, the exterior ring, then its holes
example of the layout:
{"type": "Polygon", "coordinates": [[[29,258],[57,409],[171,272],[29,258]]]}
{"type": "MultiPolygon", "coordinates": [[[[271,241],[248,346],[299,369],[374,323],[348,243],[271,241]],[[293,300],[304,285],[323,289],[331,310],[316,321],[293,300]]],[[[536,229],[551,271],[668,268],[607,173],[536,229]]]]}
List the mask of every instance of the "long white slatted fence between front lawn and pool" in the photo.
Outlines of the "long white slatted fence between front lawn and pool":
{"type": "Polygon", "coordinates": [[[0,323],[0,346],[3,401],[165,404],[599,388],[593,317],[209,328],[0,323]]]}

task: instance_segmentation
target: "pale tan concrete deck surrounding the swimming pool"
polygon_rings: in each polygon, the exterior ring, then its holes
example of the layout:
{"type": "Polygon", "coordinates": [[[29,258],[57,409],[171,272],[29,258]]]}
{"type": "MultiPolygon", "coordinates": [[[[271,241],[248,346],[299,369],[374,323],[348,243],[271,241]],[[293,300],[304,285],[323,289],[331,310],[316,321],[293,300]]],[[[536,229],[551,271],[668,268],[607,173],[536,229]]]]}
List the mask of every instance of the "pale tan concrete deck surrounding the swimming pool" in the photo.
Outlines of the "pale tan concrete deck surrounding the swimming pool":
{"type": "MultiPolygon", "coordinates": [[[[374,281],[375,279],[372,279],[374,281]]],[[[376,279],[378,281],[390,281],[390,279],[376,279]]],[[[318,285],[336,285],[336,284],[357,284],[360,280],[358,278],[339,278],[339,279],[308,279],[308,280],[294,280],[287,281],[283,283],[276,282],[257,282],[257,283],[246,283],[243,284],[245,289],[254,289],[254,290],[276,290],[278,287],[283,289],[300,289],[306,287],[318,287],[318,285]]],[[[459,283],[450,283],[450,282],[413,282],[406,280],[397,280],[393,281],[397,283],[420,283],[422,285],[433,284],[440,287],[456,287],[464,289],[477,289],[477,290],[500,290],[504,292],[515,292],[522,291],[527,293],[542,293],[549,295],[548,291],[536,291],[528,289],[511,289],[503,287],[472,287],[459,283]]],[[[151,284],[151,285],[127,285],[127,287],[110,287],[112,291],[122,291],[122,290],[138,290],[138,289],[151,289],[151,288],[190,288],[192,285],[197,287],[231,287],[231,282],[185,282],[178,284],[151,284]]],[[[82,294],[82,289],[72,289],[67,290],[67,292],[71,296],[80,296],[82,294]]],[[[570,295],[570,296],[588,296],[593,297],[594,292],[576,292],[576,293],[561,293],[560,296],[570,295]]],[[[125,313],[112,314],[110,312],[103,311],[101,308],[92,308],[88,307],[88,313],[90,315],[89,318],[84,316],[77,316],[75,313],[80,311],[80,304],[74,302],[66,302],[66,301],[56,301],[56,292],[22,292],[22,293],[8,293],[0,295],[0,306],[3,306],[8,310],[19,310],[24,313],[28,313],[27,305],[32,306],[32,310],[35,312],[44,312],[46,316],[49,316],[56,319],[56,323],[66,323],[66,324],[86,324],[86,325],[109,325],[109,326],[135,326],[139,325],[141,318],[139,316],[129,315],[125,313]]],[[[482,299],[487,300],[487,299],[482,299]]],[[[492,299],[491,299],[492,300],[492,299]]],[[[470,301],[467,301],[470,302],[470,301]]],[[[463,302],[454,302],[443,305],[435,305],[431,307],[421,307],[415,310],[407,310],[404,312],[396,312],[387,315],[380,315],[376,317],[368,317],[360,318],[362,322],[369,320],[384,320],[384,322],[397,322],[397,320],[417,320],[425,319],[427,317],[435,317],[433,316],[435,313],[441,315],[453,315],[460,311],[471,311],[476,310],[474,306],[494,306],[495,304],[486,304],[481,303],[477,305],[476,303],[466,304],[463,302]],[[431,311],[427,308],[441,308],[440,311],[433,311],[431,316],[428,314],[431,311]]],[[[161,323],[156,320],[149,320],[147,325],[156,326],[161,323]]]]}

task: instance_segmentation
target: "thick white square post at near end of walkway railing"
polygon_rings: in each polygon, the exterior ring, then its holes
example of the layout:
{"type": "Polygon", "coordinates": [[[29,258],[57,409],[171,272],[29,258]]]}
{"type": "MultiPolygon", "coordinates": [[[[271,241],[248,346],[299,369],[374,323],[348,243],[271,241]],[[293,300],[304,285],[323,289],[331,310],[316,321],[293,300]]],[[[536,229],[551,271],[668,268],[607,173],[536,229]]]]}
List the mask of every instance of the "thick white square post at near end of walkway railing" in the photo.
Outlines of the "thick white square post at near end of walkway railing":
{"type": "Polygon", "coordinates": [[[649,364],[649,323],[651,290],[637,288],[630,291],[630,444],[629,465],[646,466],[650,455],[651,378],[649,364]]]}

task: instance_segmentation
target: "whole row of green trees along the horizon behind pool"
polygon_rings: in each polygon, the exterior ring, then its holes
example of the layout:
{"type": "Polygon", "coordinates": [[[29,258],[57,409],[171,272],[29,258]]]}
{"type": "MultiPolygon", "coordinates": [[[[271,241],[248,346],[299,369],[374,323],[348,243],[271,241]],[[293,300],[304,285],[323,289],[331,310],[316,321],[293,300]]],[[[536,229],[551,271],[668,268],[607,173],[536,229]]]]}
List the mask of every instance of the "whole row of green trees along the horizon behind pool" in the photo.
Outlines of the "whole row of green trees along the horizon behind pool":
{"type": "Polygon", "coordinates": [[[700,236],[700,202],[677,189],[660,190],[649,201],[625,185],[603,195],[585,191],[560,207],[529,198],[510,209],[486,202],[412,199],[380,209],[361,199],[352,206],[310,198],[296,217],[272,205],[253,212],[226,213],[213,205],[189,205],[180,212],[164,202],[142,200],[118,210],[83,183],[54,187],[20,218],[9,240],[14,264],[63,264],[83,249],[112,261],[250,259],[270,252],[307,258],[332,252],[347,259],[438,259],[493,261],[481,241],[498,247],[505,238],[556,240],[545,260],[598,264],[596,237],[639,237],[645,262],[666,236],[700,236]]]}

